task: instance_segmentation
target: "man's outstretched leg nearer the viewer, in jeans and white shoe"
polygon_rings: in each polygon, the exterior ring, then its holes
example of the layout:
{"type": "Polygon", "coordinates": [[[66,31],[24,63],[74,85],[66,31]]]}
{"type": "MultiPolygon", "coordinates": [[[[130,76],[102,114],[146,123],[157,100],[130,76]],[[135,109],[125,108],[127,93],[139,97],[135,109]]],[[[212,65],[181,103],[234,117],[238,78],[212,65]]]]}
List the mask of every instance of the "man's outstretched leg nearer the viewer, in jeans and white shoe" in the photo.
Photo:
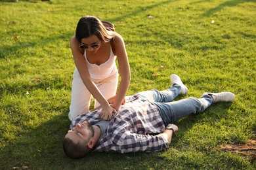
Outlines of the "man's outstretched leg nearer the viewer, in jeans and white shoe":
{"type": "Polygon", "coordinates": [[[200,99],[189,97],[171,103],[154,103],[154,105],[158,107],[161,118],[167,126],[167,124],[171,124],[189,114],[203,112],[212,103],[232,100],[234,100],[234,94],[230,92],[203,93],[200,99]]]}

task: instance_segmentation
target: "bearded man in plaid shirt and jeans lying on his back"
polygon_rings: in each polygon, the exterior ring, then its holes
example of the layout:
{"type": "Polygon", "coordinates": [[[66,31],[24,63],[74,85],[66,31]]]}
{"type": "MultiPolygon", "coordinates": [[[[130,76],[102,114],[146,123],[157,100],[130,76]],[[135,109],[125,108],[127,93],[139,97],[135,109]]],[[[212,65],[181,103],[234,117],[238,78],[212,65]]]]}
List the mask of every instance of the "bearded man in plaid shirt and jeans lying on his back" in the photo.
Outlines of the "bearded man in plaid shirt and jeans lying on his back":
{"type": "Polygon", "coordinates": [[[173,133],[178,131],[173,122],[188,114],[200,113],[212,103],[233,101],[235,97],[230,92],[203,93],[199,99],[173,101],[177,95],[188,93],[188,88],[177,75],[171,75],[171,82],[167,90],[149,90],[127,97],[125,105],[110,121],[100,118],[100,109],[78,116],[64,138],[66,155],[79,159],[91,151],[163,150],[169,147],[173,133]]]}

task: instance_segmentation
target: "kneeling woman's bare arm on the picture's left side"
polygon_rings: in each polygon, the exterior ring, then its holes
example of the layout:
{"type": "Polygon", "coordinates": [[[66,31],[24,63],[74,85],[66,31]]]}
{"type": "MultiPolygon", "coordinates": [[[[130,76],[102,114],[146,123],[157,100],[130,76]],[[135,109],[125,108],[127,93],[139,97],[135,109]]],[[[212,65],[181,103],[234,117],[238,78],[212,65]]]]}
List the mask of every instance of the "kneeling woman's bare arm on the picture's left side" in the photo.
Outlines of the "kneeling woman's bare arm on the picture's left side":
{"type": "MultiPolygon", "coordinates": [[[[110,105],[108,104],[108,101],[104,98],[102,93],[98,90],[93,80],[91,80],[91,75],[89,73],[87,64],[85,63],[85,59],[83,57],[83,52],[79,48],[79,42],[75,37],[72,37],[70,40],[70,46],[75,62],[75,66],[77,67],[77,70],[79,72],[79,75],[81,76],[83,83],[85,84],[86,88],[91,92],[93,97],[100,103],[102,107],[102,112],[108,112],[110,115],[112,112],[116,112],[110,105]]],[[[108,114],[106,114],[108,115],[108,114]]],[[[108,120],[110,118],[104,118],[104,120],[108,120]]]]}

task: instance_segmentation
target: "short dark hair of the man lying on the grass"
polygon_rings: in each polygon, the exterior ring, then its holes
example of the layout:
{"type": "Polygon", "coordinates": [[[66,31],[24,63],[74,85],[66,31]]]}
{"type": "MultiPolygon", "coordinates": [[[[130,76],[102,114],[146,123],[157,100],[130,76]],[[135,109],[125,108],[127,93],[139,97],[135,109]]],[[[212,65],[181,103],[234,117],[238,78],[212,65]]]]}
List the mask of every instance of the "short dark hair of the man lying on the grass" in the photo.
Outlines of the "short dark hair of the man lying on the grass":
{"type": "Polygon", "coordinates": [[[87,147],[87,141],[83,143],[75,143],[72,139],[65,137],[63,141],[63,149],[65,154],[73,159],[84,158],[86,154],[90,151],[87,147]]]}

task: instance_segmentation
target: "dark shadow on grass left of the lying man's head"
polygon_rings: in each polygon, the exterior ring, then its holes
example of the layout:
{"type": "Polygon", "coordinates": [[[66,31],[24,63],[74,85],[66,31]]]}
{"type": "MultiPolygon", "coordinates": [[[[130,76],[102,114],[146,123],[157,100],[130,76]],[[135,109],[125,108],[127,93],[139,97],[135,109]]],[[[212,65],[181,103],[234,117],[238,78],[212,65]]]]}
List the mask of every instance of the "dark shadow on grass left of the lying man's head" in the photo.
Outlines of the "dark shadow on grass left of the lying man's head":
{"type": "MultiPolygon", "coordinates": [[[[39,167],[53,167],[54,163],[62,163],[62,140],[70,120],[68,113],[54,116],[48,122],[35,129],[24,130],[13,143],[1,149],[1,163],[3,169],[28,166],[32,169],[39,167]]],[[[59,165],[61,165],[61,163],[59,165]]]]}

